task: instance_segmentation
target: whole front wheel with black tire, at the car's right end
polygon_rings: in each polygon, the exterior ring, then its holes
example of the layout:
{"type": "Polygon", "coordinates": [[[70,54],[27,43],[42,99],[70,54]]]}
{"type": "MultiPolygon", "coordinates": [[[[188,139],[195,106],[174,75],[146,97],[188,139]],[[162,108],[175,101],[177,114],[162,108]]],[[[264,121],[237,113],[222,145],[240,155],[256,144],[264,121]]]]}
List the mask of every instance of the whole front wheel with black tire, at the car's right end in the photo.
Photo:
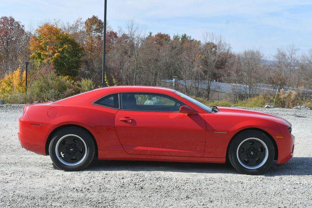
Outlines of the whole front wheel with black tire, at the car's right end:
{"type": "Polygon", "coordinates": [[[228,150],[232,166],[237,171],[250,175],[262,174],[268,170],[273,163],[274,154],[271,139],[265,133],[255,130],[235,135],[228,150]]]}

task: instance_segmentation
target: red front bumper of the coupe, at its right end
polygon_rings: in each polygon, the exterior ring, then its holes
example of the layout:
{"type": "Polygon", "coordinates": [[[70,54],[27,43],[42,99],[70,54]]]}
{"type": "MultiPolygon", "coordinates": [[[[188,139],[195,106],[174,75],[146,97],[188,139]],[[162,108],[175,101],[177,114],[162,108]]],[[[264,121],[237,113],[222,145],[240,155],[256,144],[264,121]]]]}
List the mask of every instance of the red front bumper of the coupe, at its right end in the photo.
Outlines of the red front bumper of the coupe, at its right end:
{"type": "Polygon", "coordinates": [[[282,139],[276,139],[275,141],[278,148],[277,164],[284,164],[293,156],[295,137],[290,134],[282,139]]]}

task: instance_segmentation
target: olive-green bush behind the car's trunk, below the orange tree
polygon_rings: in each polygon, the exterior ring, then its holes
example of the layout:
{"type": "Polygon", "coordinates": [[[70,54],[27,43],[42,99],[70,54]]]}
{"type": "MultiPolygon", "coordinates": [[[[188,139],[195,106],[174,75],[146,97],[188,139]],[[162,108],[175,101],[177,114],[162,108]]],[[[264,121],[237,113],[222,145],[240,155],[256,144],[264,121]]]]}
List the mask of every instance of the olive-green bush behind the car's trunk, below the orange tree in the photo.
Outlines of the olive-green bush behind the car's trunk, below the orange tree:
{"type": "Polygon", "coordinates": [[[66,76],[57,76],[54,71],[41,71],[34,77],[30,93],[39,102],[55,101],[77,93],[74,81],[66,76]]]}

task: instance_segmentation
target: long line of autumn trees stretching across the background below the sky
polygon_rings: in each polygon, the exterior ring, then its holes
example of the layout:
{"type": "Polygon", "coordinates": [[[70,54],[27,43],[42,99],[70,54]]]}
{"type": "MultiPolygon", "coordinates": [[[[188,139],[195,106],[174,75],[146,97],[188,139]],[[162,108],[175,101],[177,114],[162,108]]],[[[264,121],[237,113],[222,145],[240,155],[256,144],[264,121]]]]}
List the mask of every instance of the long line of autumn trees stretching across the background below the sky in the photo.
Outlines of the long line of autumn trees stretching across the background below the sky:
{"type": "MultiPolygon", "coordinates": [[[[99,86],[102,31],[103,22],[96,16],[72,24],[44,22],[36,31],[26,31],[13,17],[1,17],[0,79],[30,61],[31,75],[53,71],[71,80],[89,79],[99,86]]],[[[299,55],[294,45],[276,49],[274,61],[267,64],[259,50],[234,53],[224,38],[212,33],[205,33],[202,41],[187,34],[145,34],[129,21],[125,29],[108,28],[106,46],[106,81],[110,85],[161,86],[162,80],[177,76],[194,80],[195,96],[208,98],[214,80],[248,86],[246,97],[254,96],[257,83],[272,84],[276,89],[312,88],[312,51],[299,55]],[[203,80],[207,88],[200,94],[203,80]]],[[[186,93],[188,87],[185,85],[186,93]]]]}

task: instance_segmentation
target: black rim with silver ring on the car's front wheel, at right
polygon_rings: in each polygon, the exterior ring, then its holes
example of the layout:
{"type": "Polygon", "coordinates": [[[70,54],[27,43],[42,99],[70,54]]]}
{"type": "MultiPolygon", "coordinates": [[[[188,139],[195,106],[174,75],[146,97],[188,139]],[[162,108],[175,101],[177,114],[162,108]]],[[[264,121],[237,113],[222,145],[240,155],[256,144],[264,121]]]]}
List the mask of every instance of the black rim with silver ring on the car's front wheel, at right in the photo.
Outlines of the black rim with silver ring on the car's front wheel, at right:
{"type": "Polygon", "coordinates": [[[254,167],[263,162],[266,157],[266,151],[261,142],[250,139],[239,146],[238,155],[242,163],[246,166],[254,167]]]}

